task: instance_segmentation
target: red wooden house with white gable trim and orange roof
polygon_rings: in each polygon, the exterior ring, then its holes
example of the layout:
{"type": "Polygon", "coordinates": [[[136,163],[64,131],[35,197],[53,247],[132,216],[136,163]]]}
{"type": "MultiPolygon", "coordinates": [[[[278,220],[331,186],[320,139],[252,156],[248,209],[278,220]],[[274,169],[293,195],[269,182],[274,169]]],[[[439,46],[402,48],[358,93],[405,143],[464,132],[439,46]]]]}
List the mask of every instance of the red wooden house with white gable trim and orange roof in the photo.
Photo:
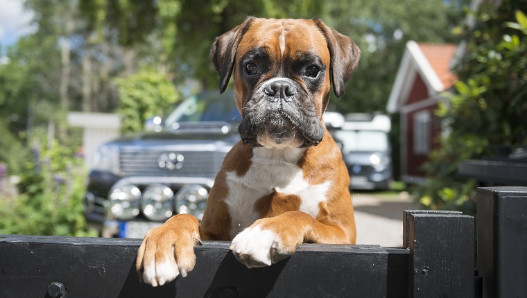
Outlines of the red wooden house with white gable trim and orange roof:
{"type": "Polygon", "coordinates": [[[422,164],[438,144],[443,124],[434,115],[442,91],[451,89],[456,76],[450,71],[456,53],[453,44],[406,44],[388,105],[389,113],[401,114],[401,177],[417,184],[424,180],[422,164]]]}

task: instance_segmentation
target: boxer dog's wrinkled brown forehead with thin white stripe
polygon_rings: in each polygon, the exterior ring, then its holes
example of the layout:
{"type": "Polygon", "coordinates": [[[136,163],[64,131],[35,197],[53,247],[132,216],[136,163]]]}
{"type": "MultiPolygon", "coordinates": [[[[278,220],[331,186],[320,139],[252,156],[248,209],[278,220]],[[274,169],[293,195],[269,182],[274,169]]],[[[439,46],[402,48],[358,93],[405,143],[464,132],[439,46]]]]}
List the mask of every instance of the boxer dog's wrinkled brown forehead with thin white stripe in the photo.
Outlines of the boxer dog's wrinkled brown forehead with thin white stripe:
{"type": "Polygon", "coordinates": [[[243,35],[236,51],[236,60],[259,49],[276,62],[316,55],[329,66],[330,53],[325,35],[315,23],[305,19],[255,19],[243,35]]]}

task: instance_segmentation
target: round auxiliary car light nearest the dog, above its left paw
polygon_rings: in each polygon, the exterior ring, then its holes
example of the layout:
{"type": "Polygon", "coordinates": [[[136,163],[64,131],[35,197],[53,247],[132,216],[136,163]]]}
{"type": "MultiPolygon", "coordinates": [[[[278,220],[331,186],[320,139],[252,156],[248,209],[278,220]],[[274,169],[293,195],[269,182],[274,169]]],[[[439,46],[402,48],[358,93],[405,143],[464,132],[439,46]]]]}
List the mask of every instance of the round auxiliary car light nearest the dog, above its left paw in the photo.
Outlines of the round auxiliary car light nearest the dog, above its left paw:
{"type": "Polygon", "coordinates": [[[175,211],[184,214],[189,213],[202,220],[209,191],[198,184],[183,186],[175,195],[175,211]]]}

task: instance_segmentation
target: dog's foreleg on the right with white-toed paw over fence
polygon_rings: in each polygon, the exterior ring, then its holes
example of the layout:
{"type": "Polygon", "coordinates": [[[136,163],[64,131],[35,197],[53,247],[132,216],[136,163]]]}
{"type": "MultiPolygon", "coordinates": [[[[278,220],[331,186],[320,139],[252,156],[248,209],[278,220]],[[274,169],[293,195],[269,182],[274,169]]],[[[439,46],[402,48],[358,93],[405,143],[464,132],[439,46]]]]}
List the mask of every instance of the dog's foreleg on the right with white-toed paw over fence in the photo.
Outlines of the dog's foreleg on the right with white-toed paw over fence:
{"type": "Polygon", "coordinates": [[[354,237],[336,223],[322,223],[302,211],[288,211],[255,221],[234,237],[230,249],[241,263],[254,268],[291,256],[302,243],[350,243],[354,237]]]}

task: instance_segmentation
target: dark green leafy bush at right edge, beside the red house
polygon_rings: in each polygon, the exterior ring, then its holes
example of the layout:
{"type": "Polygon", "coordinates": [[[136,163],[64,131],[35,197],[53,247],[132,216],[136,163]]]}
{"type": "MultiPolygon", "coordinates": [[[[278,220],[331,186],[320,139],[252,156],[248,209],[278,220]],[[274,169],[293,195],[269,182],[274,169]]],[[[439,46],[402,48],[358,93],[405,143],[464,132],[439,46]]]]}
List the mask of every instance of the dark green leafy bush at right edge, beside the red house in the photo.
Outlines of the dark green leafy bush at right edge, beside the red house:
{"type": "Polygon", "coordinates": [[[476,25],[460,30],[466,53],[456,93],[437,111],[450,133],[425,166],[431,179],[418,191],[425,206],[474,212],[476,183],[456,175],[460,161],[527,145],[527,18],[519,10],[526,8],[525,0],[481,6],[476,25]]]}

